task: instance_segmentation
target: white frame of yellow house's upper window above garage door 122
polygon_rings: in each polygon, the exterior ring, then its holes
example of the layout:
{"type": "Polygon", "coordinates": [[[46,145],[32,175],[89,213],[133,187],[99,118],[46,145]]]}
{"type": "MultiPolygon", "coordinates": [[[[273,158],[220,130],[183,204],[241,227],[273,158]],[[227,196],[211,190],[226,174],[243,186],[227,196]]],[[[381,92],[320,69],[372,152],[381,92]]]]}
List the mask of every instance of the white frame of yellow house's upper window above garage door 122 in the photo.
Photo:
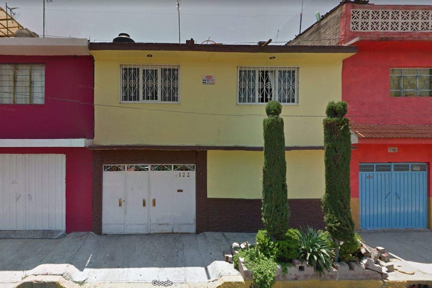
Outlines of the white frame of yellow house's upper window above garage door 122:
{"type": "Polygon", "coordinates": [[[165,64],[120,64],[119,65],[119,101],[120,103],[170,103],[179,104],[180,103],[180,65],[165,65],[165,64]],[[138,85],[139,85],[139,99],[138,101],[127,101],[123,100],[123,68],[138,68],[138,85]],[[170,68],[177,69],[177,101],[162,101],[162,82],[161,82],[161,69],[170,68]],[[156,70],[157,69],[157,100],[143,100],[143,87],[142,87],[142,70],[156,70]]]}

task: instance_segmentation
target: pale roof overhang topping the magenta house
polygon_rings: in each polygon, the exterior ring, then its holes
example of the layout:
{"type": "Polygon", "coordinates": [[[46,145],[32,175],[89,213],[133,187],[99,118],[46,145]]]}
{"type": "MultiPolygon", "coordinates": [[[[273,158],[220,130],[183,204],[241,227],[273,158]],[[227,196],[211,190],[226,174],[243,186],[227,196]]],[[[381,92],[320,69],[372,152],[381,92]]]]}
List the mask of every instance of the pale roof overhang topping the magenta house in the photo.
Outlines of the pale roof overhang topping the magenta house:
{"type": "Polygon", "coordinates": [[[89,41],[81,38],[0,38],[2,55],[89,56],[89,41]]]}

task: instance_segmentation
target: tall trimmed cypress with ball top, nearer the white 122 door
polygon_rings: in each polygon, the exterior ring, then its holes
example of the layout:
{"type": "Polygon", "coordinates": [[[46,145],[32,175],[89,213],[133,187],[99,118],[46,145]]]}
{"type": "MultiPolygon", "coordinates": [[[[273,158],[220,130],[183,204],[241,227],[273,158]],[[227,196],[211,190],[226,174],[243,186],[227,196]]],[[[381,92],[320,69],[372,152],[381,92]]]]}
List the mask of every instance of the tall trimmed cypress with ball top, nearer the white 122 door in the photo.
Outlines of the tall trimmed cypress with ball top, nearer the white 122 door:
{"type": "Polygon", "coordinates": [[[282,105],[266,105],[264,126],[263,223],[273,240],[283,239],[288,230],[287,162],[285,160],[284,120],[279,117],[282,105]]]}

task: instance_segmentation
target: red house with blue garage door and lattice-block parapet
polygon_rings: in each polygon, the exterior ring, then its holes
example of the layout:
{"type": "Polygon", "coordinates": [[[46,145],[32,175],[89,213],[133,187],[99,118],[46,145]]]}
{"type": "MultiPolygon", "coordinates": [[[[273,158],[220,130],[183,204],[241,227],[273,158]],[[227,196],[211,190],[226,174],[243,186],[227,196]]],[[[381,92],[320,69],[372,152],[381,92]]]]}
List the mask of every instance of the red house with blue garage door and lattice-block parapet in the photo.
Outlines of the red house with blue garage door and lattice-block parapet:
{"type": "Polygon", "coordinates": [[[431,228],[432,6],[343,1],[287,45],[358,47],[342,70],[356,227],[431,228]]]}

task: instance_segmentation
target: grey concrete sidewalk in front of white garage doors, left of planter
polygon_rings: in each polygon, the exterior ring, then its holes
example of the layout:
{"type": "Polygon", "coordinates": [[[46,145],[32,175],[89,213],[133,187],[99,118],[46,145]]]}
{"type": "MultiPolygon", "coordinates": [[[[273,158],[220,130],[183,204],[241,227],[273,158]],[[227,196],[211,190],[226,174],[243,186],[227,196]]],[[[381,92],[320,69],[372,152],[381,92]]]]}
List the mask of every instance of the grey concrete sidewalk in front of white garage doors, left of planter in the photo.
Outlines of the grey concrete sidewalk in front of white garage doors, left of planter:
{"type": "Polygon", "coordinates": [[[223,276],[242,281],[223,252],[235,241],[254,238],[254,233],[205,232],[0,239],[0,287],[32,275],[61,275],[77,283],[208,283],[223,276]]]}

